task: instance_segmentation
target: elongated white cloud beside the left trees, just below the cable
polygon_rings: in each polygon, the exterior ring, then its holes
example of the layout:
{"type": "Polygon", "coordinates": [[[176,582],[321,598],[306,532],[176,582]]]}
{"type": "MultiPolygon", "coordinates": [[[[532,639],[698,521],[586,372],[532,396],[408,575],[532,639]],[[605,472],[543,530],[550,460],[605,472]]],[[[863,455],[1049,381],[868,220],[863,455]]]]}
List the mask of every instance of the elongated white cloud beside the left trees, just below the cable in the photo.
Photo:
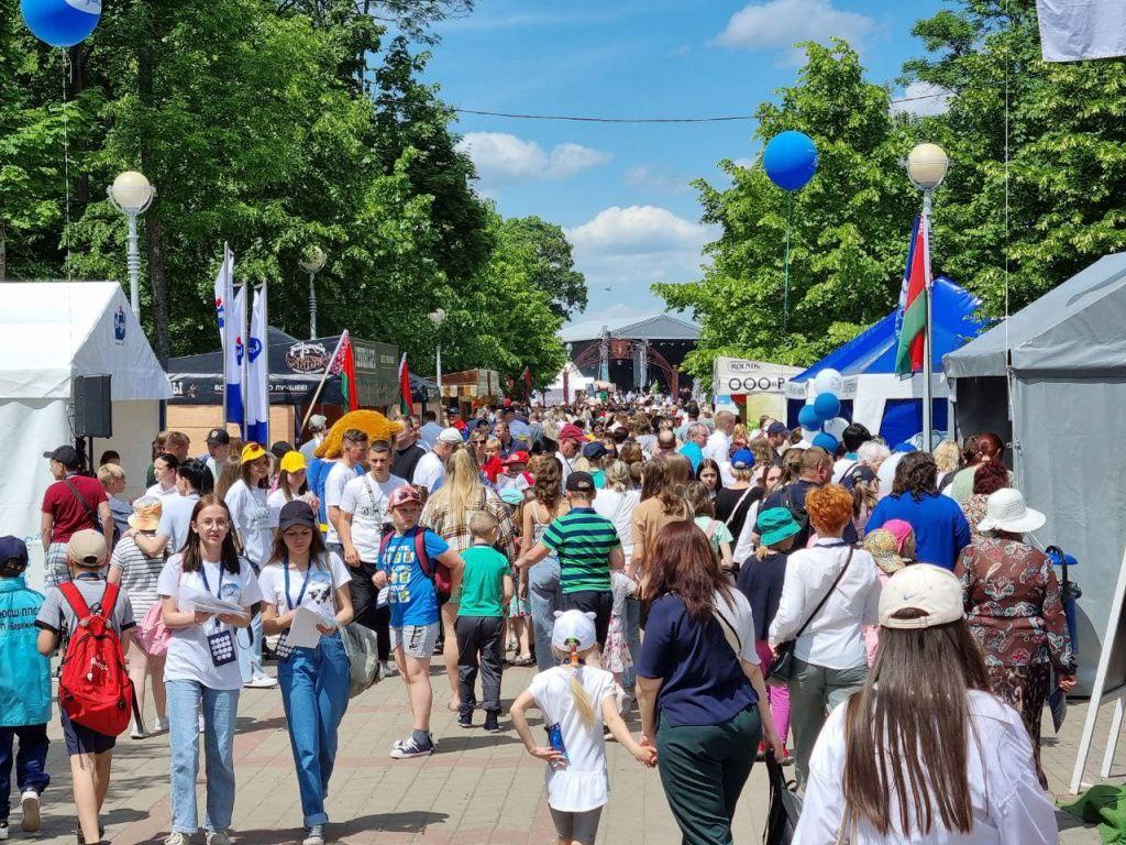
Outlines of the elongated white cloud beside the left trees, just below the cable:
{"type": "Polygon", "coordinates": [[[520,181],[557,181],[605,164],[614,157],[580,144],[558,144],[549,152],[535,141],[504,132],[468,132],[457,142],[477,169],[485,188],[520,181]]]}

